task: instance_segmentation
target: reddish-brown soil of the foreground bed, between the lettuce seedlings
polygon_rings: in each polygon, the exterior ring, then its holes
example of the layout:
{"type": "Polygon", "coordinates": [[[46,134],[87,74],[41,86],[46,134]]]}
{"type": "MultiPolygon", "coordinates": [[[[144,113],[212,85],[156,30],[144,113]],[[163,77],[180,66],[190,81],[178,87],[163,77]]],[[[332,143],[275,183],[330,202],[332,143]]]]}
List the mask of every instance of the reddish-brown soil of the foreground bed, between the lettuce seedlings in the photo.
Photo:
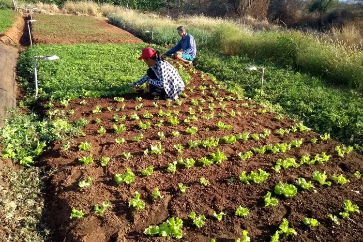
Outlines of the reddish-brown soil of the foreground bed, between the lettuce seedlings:
{"type": "MultiPolygon", "coordinates": [[[[202,95],[198,89],[200,85],[212,85],[209,77],[202,79],[200,73],[191,74],[193,80],[188,85],[196,86],[193,92],[185,91],[187,98],[181,98],[182,105],[166,107],[166,101],[159,101],[159,107],[155,108],[149,94],[140,93],[125,96],[124,110],[116,112],[117,107],[123,103],[118,103],[113,99],[85,99],[86,105],[79,103],[83,99],[69,102],[69,106],[64,111],[73,109],[75,115],[70,115],[70,121],[76,121],[80,118],[90,119],[91,122],[83,128],[86,136],[74,139],[71,147],[67,151],[61,151],[61,146],[66,142],[55,143],[51,151],[47,151],[43,160],[44,164],[49,167],[57,167],[51,177],[50,184],[47,188],[45,204],[45,220],[53,231],[54,241],[87,241],[87,242],[104,242],[104,241],[170,241],[171,237],[150,237],[143,234],[145,228],[151,225],[159,225],[170,217],[179,217],[183,220],[183,237],[181,241],[209,242],[212,238],[216,241],[234,241],[236,238],[242,238],[242,230],[248,231],[251,241],[269,241],[276,230],[278,230],[283,218],[289,221],[289,227],[296,229],[296,236],[288,236],[281,241],[362,241],[363,240],[363,218],[359,213],[351,213],[349,219],[341,219],[338,215],[343,211],[343,201],[349,199],[353,204],[363,207],[362,191],[363,182],[356,179],[352,174],[356,170],[362,169],[363,157],[351,152],[345,157],[339,157],[334,148],[339,145],[337,142],[329,139],[322,141],[319,135],[313,132],[290,132],[280,136],[275,133],[280,128],[291,128],[293,122],[287,118],[282,121],[274,119],[275,113],[266,112],[260,114],[258,109],[262,106],[255,106],[248,100],[241,101],[223,101],[227,103],[227,111],[221,109],[218,101],[214,100],[216,109],[214,118],[211,120],[202,120],[201,116],[210,113],[208,110],[209,103],[199,103],[203,106],[203,112],[199,113],[197,106],[191,105],[192,99],[203,98],[205,100],[212,98],[211,89],[206,90],[206,95],[202,95]],[[141,102],[136,101],[135,97],[141,96],[143,108],[135,111],[135,106],[141,102]],[[238,106],[237,104],[248,103],[249,107],[238,106]],[[92,110],[96,106],[102,106],[102,112],[93,114],[92,110]],[[106,106],[112,106],[113,109],[108,111],[106,106]],[[196,111],[198,121],[184,123],[183,120],[191,117],[189,108],[196,111]],[[167,118],[158,117],[159,109],[178,110],[180,121],[179,125],[172,126],[167,118]],[[231,117],[230,110],[241,111],[242,116],[231,117]],[[143,113],[148,110],[153,114],[153,118],[144,119],[143,113]],[[130,116],[136,112],[145,123],[149,121],[151,128],[140,130],[137,128],[138,121],[130,120],[130,116]],[[225,113],[225,118],[218,117],[218,113],[225,113]],[[126,120],[115,122],[112,117],[118,114],[120,117],[125,114],[126,120]],[[95,119],[101,119],[102,123],[95,123],[95,119]],[[161,127],[154,125],[163,119],[165,122],[161,127]],[[233,126],[233,130],[218,130],[216,124],[223,121],[225,124],[233,126]],[[125,124],[127,130],[121,134],[115,134],[113,123],[120,125],[125,124]],[[99,126],[106,129],[106,134],[97,134],[99,126]],[[186,134],[186,128],[196,126],[198,131],[195,135],[186,134]],[[209,131],[204,130],[209,128],[209,131]],[[237,135],[243,132],[263,133],[264,129],[271,130],[271,135],[259,140],[249,139],[248,141],[237,141],[234,144],[219,144],[216,148],[188,148],[188,140],[205,139],[207,137],[222,137],[230,134],[237,135]],[[172,131],[179,131],[180,136],[171,136],[172,131]],[[158,132],[163,132],[165,139],[159,140],[158,132]],[[133,138],[139,133],[143,134],[143,139],[134,142],[133,138]],[[123,137],[126,142],[116,144],[115,138],[123,137]],[[251,158],[241,161],[238,157],[239,152],[246,152],[253,147],[261,147],[268,144],[289,143],[291,140],[303,138],[304,142],[299,148],[291,148],[283,153],[272,154],[254,154],[251,158]],[[310,142],[312,138],[318,138],[317,143],[310,142]],[[87,141],[92,144],[90,151],[78,151],[78,145],[87,141]],[[161,142],[165,150],[159,155],[144,155],[143,151],[149,149],[151,145],[161,142]],[[184,150],[181,154],[173,148],[175,144],[182,144],[184,150]],[[217,149],[223,151],[227,160],[212,166],[201,166],[198,162],[203,156],[210,157],[212,152],[217,149]],[[133,157],[125,159],[123,153],[130,152],[133,157]],[[309,154],[315,156],[321,152],[331,155],[331,158],[325,164],[320,165],[302,165],[298,168],[282,169],[276,173],[272,166],[277,159],[286,159],[294,157],[299,160],[302,155],[309,154]],[[78,158],[92,155],[94,162],[88,166],[81,165],[78,158]],[[100,166],[102,156],[110,157],[107,166],[100,166]],[[185,168],[177,165],[176,172],[166,172],[167,164],[176,161],[179,157],[193,158],[196,165],[191,168],[185,168]],[[140,170],[149,166],[154,167],[151,176],[142,176],[140,170]],[[125,168],[129,167],[135,173],[135,181],[130,185],[118,185],[114,181],[115,174],[124,173],[125,168]],[[267,181],[257,184],[242,183],[239,175],[242,171],[249,174],[251,171],[257,171],[261,168],[270,173],[267,181]],[[300,187],[296,196],[285,198],[273,193],[274,186],[279,182],[288,182],[295,184],[298,177],[312,180],[312,172],[318,170],[326,171],[328,178],[332,181],[333,174],[344,175],[350,180],[345,185],[333,184],[321,186],[313,181],[315,189],[303,191],[300,187]],[[91,185],[86,189],[80,189],[78,182],[92,177],[91,185]],[[199,183],[200,177],[210,181],[208,186],[199,183]],[[234,181],[227,179],[234,177],[234,181]],[[178,183],[182,182],[188,188],[185,193],[181,193],[178,183]],[[153,200],[152,191],[155,187],[163,196],[163,199],[153,200]],[[140,193],[140,198],[146,203],[144,210],[136,211],[129,208],[128,203],[134,197],[134,192],[140,193]],[[272,192],[272,197],[278,198],[279,204],[276,207],[265,207],[263,196],[268,191],[272,192]],[[111,207],[102,215],[93,213],[95,204],[102,204],[104,201],[110,201],[111,207]],[[245,218],[235,216],[235,211],[239,206],[249,209],[249,214],[245,218]],[[85,213],[83,218],[70,219],[72,207],[85,213]],[[226,216],[222,221],[217,221],[213,212],[225,212],[226,216]],[[190,212],[205,214],[206,222],[201,228],[193,225],[188,218],[190,212]],[[340,225],[333,224],[328,214],[336,215],[339,218],[340,225]],[[320,226],[315,228],[306,227],[302,223],[305,217],[316,218],[320,226]]],[[[218,89],[218,97],[236,95],[226,92],[225,89],[218,89]]],[[[62,107],[57,104],[53,109],[62,107]]],[[[173,115],[175,116],[175,115],[173,115]]]]}

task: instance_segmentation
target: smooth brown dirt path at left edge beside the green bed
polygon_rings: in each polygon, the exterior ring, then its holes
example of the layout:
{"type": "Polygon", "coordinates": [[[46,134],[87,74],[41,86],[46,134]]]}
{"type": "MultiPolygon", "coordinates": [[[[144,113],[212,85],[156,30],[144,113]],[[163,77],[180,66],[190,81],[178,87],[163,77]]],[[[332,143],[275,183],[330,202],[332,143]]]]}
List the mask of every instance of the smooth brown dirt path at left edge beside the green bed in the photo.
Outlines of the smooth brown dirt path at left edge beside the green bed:
{"type": "Polygon", "coordinates": [[[18,57],[15,47],[0,43],[0,127],[4,125],[3,119],[8,117],[5,107],[16,106],[15,67],[18,57]]]}

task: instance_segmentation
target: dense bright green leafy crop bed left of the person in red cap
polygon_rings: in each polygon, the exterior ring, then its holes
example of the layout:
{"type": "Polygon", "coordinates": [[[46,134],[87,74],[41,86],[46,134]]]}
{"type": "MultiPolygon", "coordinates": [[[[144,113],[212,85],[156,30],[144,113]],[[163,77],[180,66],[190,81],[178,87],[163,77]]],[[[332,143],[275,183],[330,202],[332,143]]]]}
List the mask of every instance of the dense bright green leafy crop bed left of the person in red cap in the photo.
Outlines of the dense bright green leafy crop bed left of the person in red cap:
{"type": "MultiPolygon", "coordinates": [[[[21,54],[18,61],[18,75],[27,94],[32,94],[34,92],[32,57],[57,55],[60,60],[37,61],[41,98],[74,99],[121,95],[130,92],[125,84],[145,75],[147,65],[137,58],[142,48],[146,46],[146,44],[33,45],[21,54]]],[[[190,78],[183,69],[180,69],[180,73],[184,80],[190,78]]]]}

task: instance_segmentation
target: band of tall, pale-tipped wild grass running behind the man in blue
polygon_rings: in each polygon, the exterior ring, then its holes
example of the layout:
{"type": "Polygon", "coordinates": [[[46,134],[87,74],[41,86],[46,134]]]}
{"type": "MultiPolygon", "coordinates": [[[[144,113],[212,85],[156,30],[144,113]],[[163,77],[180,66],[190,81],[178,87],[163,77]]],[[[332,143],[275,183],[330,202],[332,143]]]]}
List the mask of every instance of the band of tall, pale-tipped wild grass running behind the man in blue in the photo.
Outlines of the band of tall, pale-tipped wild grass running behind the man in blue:
{"type": "Polygon", "coordinates": [[[151,41],[145,30],[154,31],[155,44],[175,44],[179,41],[176,27],[184,25],[196,39],[198,48],[207,47],[227,55],[246,55],[249,59],[272,61],[282,67],[290,66],[334,86],[363,91],[363,52],[346,45],[330,45],[312,34],[301,31],[253,31],[233,21],[207,17],[188,17],[173,21],[167,18],[119,13],[109,15],[110,23],[136,32],[151,41]]]}

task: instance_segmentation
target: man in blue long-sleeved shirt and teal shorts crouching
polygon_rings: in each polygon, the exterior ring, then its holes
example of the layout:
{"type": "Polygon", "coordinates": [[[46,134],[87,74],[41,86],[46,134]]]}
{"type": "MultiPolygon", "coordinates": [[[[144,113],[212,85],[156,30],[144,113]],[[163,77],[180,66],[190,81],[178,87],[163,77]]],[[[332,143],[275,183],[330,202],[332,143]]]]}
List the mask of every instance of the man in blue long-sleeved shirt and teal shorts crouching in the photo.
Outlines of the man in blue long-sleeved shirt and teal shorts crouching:
{"type": "Polygon", "coordinates": [[[197,55],[196,41],[193,36],[186,33],[184,26],[177,28],[181,40],[174,48],[166,52],[166,55],[174,54],[174,58],[191,65],[197,55]],[[182,51],[180,51],[182,49],[182,51]]]}

